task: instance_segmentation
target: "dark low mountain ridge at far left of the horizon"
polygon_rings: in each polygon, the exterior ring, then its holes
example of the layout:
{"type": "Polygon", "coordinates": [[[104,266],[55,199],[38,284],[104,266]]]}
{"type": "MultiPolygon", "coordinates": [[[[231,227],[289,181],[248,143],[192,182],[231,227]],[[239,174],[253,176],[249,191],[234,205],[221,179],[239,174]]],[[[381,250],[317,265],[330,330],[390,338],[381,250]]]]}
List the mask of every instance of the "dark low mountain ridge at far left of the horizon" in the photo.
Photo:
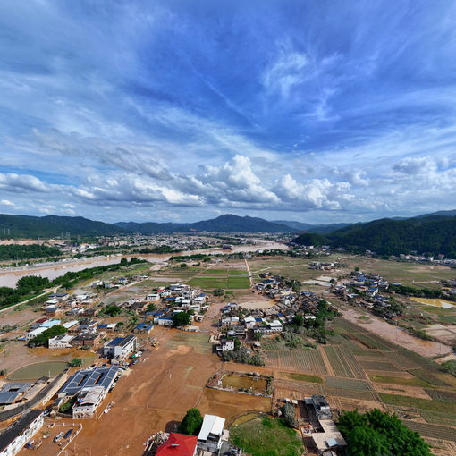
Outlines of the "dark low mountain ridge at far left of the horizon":
{"type": "Polygon", "coordinates": [[[125,232],[121,227],[104,222],[94,222],[84,217],[61,217],[46,215],[35,217],[30,215],[0,214],[0,237],[52,238],[66,236],[102,236],[125,232]]]}

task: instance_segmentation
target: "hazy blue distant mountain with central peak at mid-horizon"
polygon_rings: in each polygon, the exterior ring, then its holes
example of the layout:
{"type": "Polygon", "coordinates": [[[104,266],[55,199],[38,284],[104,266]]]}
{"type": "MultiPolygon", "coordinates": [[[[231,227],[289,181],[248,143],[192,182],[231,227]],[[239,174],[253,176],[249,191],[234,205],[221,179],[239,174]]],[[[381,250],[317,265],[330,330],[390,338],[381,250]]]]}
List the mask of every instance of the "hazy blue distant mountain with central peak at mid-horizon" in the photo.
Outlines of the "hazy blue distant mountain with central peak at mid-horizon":
{"type": "Polygon", "coordinates": [[[119,228],[142,234],[155,234],[159,232],[292,232],[290,226],[275,224],[262,218],[239,215],[220,215],[214,219],[203,220],[192,224],[156,224],[146,222],[120,222],[119,228]]]}

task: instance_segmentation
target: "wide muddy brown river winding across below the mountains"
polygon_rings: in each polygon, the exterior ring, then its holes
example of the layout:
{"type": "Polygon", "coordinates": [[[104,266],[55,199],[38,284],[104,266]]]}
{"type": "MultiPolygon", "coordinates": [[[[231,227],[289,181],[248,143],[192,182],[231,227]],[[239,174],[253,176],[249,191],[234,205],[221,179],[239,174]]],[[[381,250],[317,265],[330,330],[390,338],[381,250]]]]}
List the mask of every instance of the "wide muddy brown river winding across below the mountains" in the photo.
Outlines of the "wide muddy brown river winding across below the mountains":
{"type": "MultiPolygon", "coordinates": [[[[182,252],[173,253],[174,257],[182,255],[192,255],[197,253],[211,254],[224,254],[229,255],[230,253],[236,252],[254,252],[257,250],[264,249],[288,249],[288,247],[280,242],[265,241],[256,239],[256,245],[236,245],[232,247],[232,250],[223,249],[198,249],[198,250],[184,250],[182,252]]],[[[163,263],[167,261],[170,254],[148,254],[148,255],[107,255],[100,257],[93,257],[87,259],[75,259],[69,261],[59,261],[56,263],[42,263],[32,266],[22,267],[7,267],[0,270],[0,286],[14,288],[16,283],[21,277],[25,275],[40,275],[41,277],[47,277],[49,280],[53,280],[60,275],[68,272],[77,272],[88,267],[106,266],[118,263],[121,258],[137,257],[145,259],[150,263],[163,263]]]]}

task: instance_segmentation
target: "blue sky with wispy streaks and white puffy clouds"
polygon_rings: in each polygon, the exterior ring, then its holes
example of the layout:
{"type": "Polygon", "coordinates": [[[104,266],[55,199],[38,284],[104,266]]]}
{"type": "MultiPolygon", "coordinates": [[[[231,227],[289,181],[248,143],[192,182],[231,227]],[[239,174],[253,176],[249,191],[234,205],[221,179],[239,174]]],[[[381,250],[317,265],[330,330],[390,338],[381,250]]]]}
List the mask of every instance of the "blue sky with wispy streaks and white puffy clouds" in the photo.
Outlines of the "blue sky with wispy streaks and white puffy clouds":
{"type": "Polygon", "coordinates": [[[0,3],[0,213],[456,208],[456,2],[0,3]]]}

